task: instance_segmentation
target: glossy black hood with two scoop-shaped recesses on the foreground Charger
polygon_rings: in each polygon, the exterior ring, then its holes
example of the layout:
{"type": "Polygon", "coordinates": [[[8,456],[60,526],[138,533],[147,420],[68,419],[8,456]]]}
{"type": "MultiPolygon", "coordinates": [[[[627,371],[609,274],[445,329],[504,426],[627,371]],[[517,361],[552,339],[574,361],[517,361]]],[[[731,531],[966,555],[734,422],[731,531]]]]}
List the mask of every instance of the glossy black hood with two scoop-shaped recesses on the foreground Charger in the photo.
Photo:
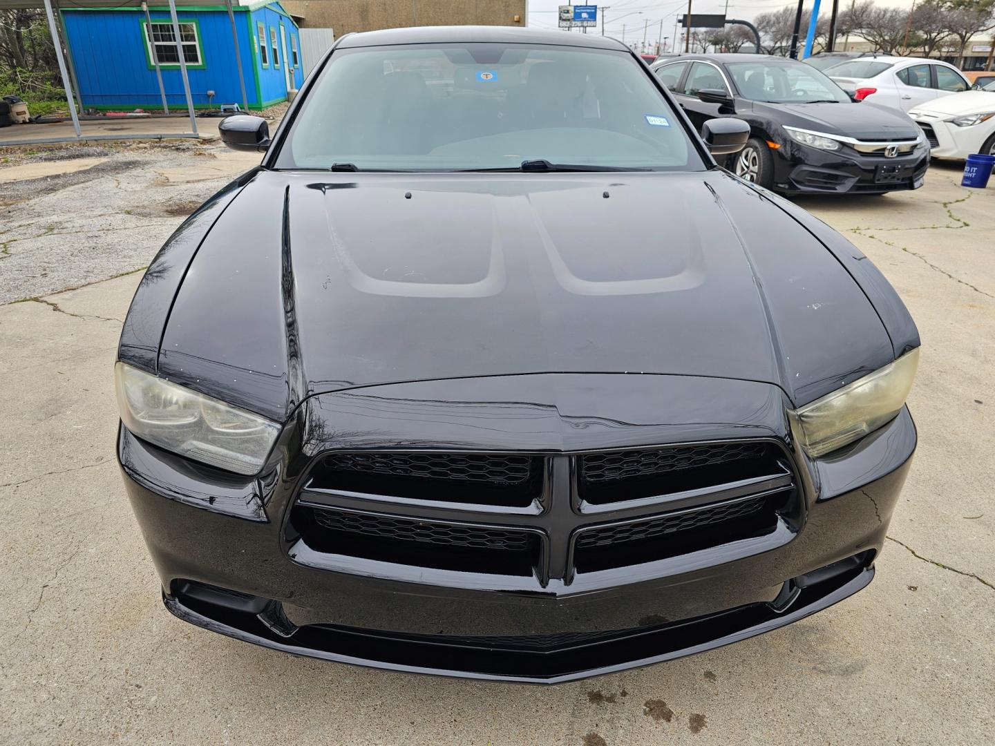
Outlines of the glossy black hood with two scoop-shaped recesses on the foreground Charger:
{"type": "Polygon", "coordinates": [[[834,255],[717,169],[261,171],[190,263],[158,373],[284,419],[315,393],[530,373],[743,379],[799,403],[893,358],[834,255]]]}

